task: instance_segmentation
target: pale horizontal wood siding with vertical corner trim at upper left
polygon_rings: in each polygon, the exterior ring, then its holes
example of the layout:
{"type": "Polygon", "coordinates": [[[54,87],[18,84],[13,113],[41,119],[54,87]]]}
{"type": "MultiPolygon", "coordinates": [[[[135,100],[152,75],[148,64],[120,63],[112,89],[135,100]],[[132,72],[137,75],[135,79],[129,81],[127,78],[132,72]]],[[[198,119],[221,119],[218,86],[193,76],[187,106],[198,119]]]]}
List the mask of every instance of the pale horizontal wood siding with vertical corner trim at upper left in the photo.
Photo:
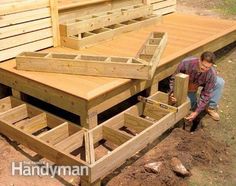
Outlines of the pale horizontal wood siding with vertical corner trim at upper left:
{"type": "Polygon", "coordinates": [[[0,61],[22,51],[56,46],[58,13],[56,0],[0,3],[0,61]]]}

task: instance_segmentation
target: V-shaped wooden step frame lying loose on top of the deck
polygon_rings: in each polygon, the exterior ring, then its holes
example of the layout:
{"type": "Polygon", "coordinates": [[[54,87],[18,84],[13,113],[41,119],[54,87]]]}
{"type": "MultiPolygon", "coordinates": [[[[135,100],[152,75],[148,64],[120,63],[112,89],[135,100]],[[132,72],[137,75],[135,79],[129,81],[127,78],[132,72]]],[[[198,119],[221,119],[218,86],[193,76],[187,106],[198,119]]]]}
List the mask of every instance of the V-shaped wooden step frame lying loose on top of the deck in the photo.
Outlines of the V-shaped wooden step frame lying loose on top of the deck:
{"type": "Polygon", "coordinates": [[[18,70],[151,80],[167,43],[166,33],[151,33],[133,57],[24,52],[18,70]]]}

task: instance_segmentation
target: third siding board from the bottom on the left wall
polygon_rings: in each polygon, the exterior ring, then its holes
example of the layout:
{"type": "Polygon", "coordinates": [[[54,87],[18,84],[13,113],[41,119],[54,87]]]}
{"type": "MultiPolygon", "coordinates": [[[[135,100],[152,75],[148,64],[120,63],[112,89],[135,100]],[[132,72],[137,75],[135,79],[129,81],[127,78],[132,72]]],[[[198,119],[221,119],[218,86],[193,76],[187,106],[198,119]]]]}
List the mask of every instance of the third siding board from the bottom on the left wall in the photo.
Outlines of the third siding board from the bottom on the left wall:
{"type": "Polygon", "coordinates": [[[34,20],[1,28],[0,39],[51,27],[51,18],[34,20]]]}

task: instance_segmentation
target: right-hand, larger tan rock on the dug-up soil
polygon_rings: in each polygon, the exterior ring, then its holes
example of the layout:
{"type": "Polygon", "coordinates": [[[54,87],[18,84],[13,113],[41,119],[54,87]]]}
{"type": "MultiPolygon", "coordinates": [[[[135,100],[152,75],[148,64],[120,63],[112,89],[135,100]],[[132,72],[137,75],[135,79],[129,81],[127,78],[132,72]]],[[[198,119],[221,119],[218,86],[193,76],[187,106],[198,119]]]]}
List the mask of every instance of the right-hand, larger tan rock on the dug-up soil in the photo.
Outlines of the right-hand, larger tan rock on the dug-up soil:
{"type": "Polygon", "coordinates": [[[185,168],[185,166],[182,164],[182,162],[174,157],[171,159],[171,167],[172,170],[180,176],[190,176],[190,172],[185,168]]]}

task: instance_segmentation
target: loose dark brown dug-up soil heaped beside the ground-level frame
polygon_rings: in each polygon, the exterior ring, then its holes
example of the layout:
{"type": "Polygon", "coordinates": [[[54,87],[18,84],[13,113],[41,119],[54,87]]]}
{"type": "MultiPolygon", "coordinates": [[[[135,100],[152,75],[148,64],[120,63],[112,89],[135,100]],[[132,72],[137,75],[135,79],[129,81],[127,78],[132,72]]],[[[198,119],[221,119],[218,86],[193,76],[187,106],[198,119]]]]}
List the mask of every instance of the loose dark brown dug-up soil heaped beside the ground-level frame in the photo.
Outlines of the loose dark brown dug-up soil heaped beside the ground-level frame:
{"type": "Polygon", "coordinates": [[[218,164],[230,164],[228,151],[225,144],[217,142],[203,130],[190,133],[176,128],[160,144],[108,181],[108,185],[187,185],[186,178],[172,171],[170,162],[173,157],[191,172],[194,166],[213,169],[218,164]],[[162,163],[160,172],[145,169],[145,164],[152,162],[162,163]]]}

